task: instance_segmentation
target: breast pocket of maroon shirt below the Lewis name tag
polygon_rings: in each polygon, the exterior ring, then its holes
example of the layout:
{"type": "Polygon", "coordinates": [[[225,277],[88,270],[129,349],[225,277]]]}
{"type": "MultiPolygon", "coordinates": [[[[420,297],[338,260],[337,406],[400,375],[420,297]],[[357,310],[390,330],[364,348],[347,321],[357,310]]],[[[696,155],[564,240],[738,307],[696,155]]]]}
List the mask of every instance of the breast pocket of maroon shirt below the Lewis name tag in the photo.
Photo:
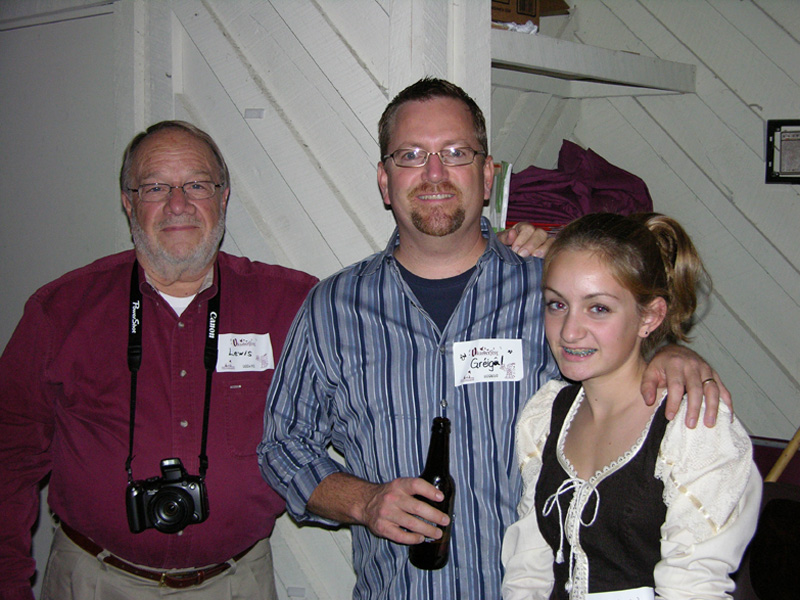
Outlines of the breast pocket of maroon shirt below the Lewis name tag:
{"type": "Polygon", "coordinates": [[[226,379],[222,410],[227,450],[232,456],[255,457],[264,431],[269,382],[263,376],[226,379]]]}

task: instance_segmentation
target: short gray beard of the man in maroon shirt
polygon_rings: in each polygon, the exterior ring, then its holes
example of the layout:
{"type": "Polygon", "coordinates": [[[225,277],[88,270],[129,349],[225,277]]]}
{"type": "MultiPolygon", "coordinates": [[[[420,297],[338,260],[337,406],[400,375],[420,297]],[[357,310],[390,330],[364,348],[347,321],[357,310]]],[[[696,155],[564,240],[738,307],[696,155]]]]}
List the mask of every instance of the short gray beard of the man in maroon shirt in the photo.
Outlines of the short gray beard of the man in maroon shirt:
{"type": "Polygon", "coordinates": [[[175,256],[151,240],[139,220],[136,211],[131,211],[131,237],[136,252],[140,253],[152,268],[165,281],[178,281],[184,273],[199,273],[213,261],[225,234],[225,215],[220,215],[217,224],[209,232],[208,237],[199,243],[186,256],[175,256]]]}

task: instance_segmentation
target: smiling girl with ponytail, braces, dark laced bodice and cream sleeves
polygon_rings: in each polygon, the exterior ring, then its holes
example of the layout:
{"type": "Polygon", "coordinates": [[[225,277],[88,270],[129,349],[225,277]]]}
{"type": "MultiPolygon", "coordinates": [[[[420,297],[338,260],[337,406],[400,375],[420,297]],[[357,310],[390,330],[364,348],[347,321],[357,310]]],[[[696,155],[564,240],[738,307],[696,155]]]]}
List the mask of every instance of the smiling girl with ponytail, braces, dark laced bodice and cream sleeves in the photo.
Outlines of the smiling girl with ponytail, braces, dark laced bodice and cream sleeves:
{"type": "Polygon", "coordinates": [[[750,439],[725,406],[714,428],[688,429],[686,402],[667,421],[639,391],[652,350],[686,341],[705,279],[662,215],[592,214],[559,233],[545,330],[577,383],[549,382],[520,416],[504,598],[730,598],[761,498],[750,439]]]}

